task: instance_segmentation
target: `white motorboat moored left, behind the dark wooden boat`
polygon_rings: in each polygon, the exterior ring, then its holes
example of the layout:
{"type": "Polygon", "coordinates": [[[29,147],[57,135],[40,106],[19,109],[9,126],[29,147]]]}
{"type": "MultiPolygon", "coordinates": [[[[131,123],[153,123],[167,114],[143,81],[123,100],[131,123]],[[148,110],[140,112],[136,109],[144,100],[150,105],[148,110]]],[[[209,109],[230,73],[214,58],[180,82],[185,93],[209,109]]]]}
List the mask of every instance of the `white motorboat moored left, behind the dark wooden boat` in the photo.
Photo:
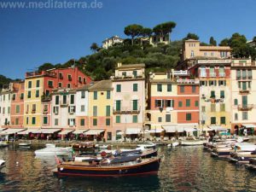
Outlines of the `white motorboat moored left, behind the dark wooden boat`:
{"type": "Polygon", "coordinates": [[[38,149],[35,151],[35,154],[38,155],[71,155],[73,152],[73,148],[59,148],[55,147],[55,144],[46,144],[46,148],[38,149]]]}

